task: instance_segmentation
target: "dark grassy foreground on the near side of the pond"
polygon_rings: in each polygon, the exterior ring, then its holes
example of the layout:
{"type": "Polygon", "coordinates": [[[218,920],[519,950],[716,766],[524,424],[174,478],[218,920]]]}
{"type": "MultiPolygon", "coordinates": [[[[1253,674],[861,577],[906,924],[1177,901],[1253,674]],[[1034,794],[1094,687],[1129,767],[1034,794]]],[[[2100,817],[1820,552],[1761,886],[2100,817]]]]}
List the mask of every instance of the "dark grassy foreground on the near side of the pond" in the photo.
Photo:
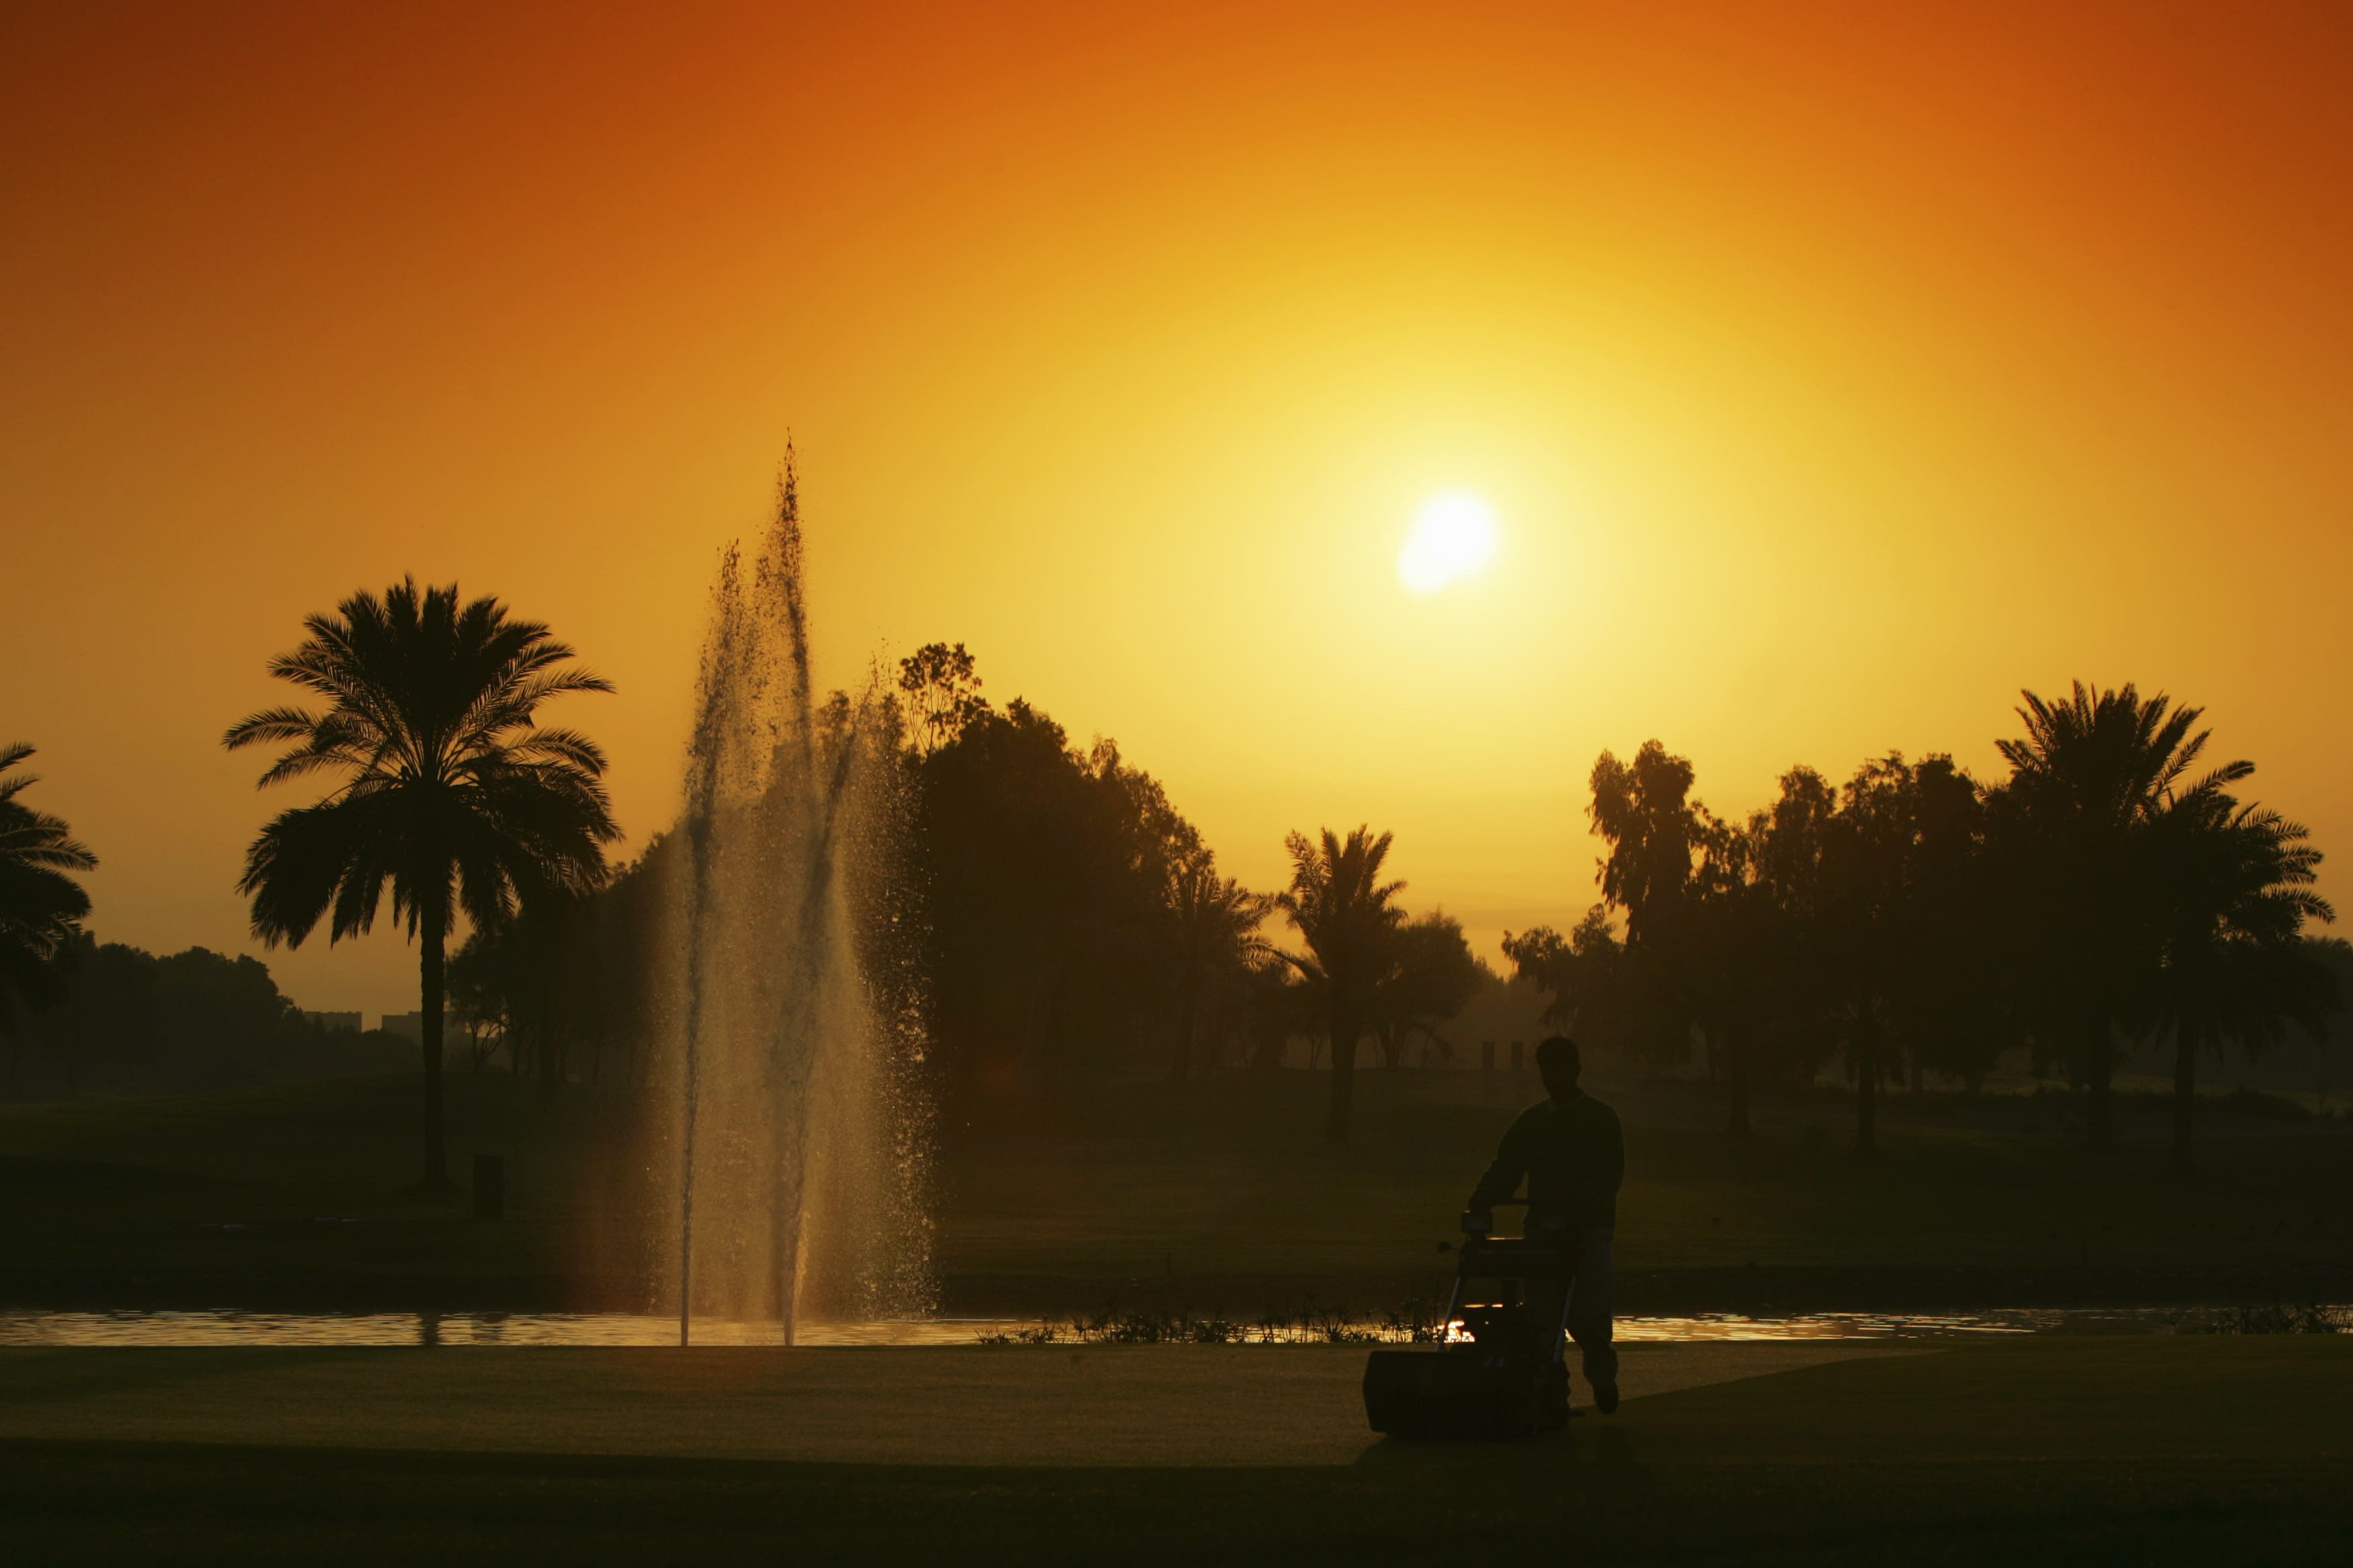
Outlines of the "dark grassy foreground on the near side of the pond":
{"type": "Polygon", "coordinates": [[[1642,1347],[1617,1418],[1489,1446],[1374,1439],[1360,1366],[7,1349],[0,1521],[21,1563],[2207,1566],[2353,1540],[2339,1338],[1642,1347]]]}

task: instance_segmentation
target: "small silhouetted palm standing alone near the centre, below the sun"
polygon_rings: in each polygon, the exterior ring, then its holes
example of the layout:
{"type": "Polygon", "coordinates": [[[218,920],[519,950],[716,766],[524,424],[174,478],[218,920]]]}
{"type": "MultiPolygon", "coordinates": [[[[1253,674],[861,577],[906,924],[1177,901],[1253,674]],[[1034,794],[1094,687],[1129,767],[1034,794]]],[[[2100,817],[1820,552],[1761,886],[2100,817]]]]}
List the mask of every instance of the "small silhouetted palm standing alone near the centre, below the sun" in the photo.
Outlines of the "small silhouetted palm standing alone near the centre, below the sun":
{"type": "Polygon", "coordinates": [[[1405,884],[1381,882],[1391,837],[1386,832],[1372,837],[1367,827],[1355,827],[1341,839],[1325,827],[1320,839],[1294,832],[1282,842],[1292,851],[1292,886],[1275,893],[1275,907],[1308,945],[1311,957],[1289,961],[1322,990],[1332,1030],[1332,1114],[1325,1135],[1334,1143],[1348,1138],[1355,1046],[1365,1037],[1391,933],[1405,919],[1395,905],[1405,884]]]}

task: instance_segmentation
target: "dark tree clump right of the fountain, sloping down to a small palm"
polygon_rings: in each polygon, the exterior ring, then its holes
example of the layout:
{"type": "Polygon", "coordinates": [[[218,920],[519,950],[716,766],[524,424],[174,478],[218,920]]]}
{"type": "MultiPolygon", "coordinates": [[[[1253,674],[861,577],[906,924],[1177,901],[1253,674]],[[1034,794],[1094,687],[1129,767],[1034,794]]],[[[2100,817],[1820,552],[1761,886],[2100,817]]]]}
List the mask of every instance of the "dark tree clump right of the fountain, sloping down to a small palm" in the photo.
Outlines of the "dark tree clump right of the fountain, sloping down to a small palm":
{"type": "Polygon", "coordinates": [[[1289,1039],[1327,1034],[1344,1135],[1358,1044],[1372,1037],[1395,1067],[1489,978],[1457,922],[1409,922],[1402,884],[1377,884],[1388,835],[1358,830],[1344,849],[1327,832],[1337,863],[1292,835],[1292,886],[1252,893],[1118,745],[1080,750],[979,686],[962,644],[899,665],[932,1044],[958,1088],[1136,1060],[1176,1079],[1268,1067],[1289,1039]],[[1308,952],[1264,936],[1278,910],[1308,952]]]}

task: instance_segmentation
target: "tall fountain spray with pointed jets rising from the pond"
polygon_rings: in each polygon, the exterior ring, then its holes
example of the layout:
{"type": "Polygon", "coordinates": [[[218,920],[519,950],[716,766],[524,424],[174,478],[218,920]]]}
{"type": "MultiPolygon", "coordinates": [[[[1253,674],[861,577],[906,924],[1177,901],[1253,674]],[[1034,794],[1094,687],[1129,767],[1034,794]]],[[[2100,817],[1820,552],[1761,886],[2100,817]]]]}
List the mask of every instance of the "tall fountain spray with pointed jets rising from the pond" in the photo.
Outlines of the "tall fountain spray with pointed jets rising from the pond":
{"type": "Polygon", "coordinates": [[[819,703],[791,458],[713,590],[685,823],[666,856],[656,1182],[678,1340],[932,1307],[920,992],[896,715],[819,703]],[[666,1171],[664,1171],[666,1166],[666,1171]]]}

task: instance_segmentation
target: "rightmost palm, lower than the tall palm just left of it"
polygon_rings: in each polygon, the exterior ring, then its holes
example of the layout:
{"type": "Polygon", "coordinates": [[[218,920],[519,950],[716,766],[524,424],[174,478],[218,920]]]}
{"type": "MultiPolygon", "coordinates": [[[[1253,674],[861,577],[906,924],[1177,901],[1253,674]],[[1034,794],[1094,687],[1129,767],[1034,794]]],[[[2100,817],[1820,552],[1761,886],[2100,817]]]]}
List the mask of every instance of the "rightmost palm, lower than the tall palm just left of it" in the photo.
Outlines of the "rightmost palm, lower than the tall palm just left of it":
{"type": "Polygon", "coordinates": [[[2174,799],[2158,820],[2165,966],[2158,1023],[2174,1032],[2177,1175],[2191,1171],[2198,1051],[2275,1044],[2289,1023],[2315,1034],[2337,980],[2301,940],[2306,919],[2337,919],[2313,891],[2320,851],[2278,811],[2240,806],[2219,788],[2174,799]]]}

